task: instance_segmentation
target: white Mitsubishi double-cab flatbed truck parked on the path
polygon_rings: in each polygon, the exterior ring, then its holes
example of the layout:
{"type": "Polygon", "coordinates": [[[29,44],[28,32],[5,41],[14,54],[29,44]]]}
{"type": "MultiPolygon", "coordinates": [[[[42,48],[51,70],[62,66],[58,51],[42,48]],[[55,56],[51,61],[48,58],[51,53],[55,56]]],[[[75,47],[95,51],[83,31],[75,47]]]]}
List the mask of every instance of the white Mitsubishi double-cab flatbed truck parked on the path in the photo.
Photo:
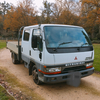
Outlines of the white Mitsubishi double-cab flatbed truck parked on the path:
{"type": "Polygon", "coordinates": [[[7,48],[11,51],[12,62],[23,61],[38,85],[66,81],[78,86],[82,77],[94,72],[93,46],[86,31],[79,26],[21,27],[18,42],[7,42],[7,48]]]}

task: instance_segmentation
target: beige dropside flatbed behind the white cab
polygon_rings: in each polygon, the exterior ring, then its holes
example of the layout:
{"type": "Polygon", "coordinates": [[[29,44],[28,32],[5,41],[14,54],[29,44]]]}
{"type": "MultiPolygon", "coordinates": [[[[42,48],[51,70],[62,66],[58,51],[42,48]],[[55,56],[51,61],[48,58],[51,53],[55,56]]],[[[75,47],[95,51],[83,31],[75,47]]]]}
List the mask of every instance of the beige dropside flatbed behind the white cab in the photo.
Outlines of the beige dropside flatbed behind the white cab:
{"type": "MultiPolygon", "coordinates": [[[[21,42],[20,42],[20,46],[21,46],[21,42]]],[[[7,48],[10,51],[13,51],[14,53],[18,54],[18,41],[7,42],[7,48]]]]}

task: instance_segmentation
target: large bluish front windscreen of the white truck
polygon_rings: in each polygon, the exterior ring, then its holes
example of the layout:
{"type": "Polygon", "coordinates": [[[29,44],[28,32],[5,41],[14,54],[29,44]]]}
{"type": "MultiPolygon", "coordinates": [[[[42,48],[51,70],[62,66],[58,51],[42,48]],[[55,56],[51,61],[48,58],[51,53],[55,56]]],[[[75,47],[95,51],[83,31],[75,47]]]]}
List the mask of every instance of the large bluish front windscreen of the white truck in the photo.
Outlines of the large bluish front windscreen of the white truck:
{"type": "Polygon", "coordinates": [[[45,26],[47,48],[90,46],[91,41],[83,28],[65,26],[45,26]]]}

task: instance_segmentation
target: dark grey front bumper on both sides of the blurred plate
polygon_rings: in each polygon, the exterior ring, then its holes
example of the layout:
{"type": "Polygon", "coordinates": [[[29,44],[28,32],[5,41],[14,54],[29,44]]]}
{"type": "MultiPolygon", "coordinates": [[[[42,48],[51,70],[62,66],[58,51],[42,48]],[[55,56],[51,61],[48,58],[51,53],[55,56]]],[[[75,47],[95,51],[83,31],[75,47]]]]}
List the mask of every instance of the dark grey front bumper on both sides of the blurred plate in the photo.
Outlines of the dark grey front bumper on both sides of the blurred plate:
{"type": "MultiPolygon", "coordinates": [[[[80,72],[80,77],[86,77],[94,72],[94,67],[86,70],[81,70],[80,72]]],[[[69,80],[69,77],[71,76],[72,73],[64,73],[64,74],[56,74],[56,75],[45,75],[43,76],[43,82],[44,83],[58,83],[58,82],[64,82],[69,80]]]]}

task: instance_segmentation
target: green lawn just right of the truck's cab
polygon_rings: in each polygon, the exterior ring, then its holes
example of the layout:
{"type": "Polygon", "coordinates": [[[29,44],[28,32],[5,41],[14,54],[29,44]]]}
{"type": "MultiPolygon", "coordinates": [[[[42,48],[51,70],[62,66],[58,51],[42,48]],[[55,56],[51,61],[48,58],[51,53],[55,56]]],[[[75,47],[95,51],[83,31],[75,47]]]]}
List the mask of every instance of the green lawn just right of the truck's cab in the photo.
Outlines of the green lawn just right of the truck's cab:
{"type": "Polygon", "coordinates": [[[94,68],[100,72],[100,44],[93,44],[94,47],[94,68]]]}

